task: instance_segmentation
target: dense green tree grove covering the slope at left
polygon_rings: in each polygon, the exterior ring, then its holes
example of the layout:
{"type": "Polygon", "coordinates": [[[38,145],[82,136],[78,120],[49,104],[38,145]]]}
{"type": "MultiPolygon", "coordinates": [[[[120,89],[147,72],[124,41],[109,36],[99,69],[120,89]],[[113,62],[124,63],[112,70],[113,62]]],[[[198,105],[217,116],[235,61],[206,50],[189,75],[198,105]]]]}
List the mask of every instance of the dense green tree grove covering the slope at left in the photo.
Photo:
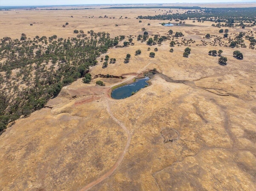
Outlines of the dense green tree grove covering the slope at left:
{"type": "MultiPolygon", "coordinates": [[[[0,130],[6,124],[28,116],[42,108],[63,86],[84,77],[90,83],[89,66],[109,47],[118,44],[118,37],[106,32],[90,37],[69,39],[52,37],[25,38],[22,41],[0,39],[0,130]]],[[[105,58],[106,59],[106,58],[105,58]]]]}

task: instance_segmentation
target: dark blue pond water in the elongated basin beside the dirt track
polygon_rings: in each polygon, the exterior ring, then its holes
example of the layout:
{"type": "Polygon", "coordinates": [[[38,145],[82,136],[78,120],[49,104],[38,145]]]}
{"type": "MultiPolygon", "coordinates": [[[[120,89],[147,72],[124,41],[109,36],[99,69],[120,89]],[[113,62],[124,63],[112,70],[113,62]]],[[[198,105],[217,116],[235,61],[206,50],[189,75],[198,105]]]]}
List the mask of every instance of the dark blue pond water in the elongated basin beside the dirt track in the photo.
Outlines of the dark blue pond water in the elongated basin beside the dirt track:
{"type": "Polygon", "coordinates": [[[145,85],[148,85],[146,81],[149,80],[149,77],[145,77],[139,80],[136,80],[132,84],[124,85],[122,87],[119,87],[117,89],[114,89],[111,93],[111,97],[114,99],[123,99],[130,97],[132,95],[132,92],[139,91],[140,89],[144,88],[145,85]]]}

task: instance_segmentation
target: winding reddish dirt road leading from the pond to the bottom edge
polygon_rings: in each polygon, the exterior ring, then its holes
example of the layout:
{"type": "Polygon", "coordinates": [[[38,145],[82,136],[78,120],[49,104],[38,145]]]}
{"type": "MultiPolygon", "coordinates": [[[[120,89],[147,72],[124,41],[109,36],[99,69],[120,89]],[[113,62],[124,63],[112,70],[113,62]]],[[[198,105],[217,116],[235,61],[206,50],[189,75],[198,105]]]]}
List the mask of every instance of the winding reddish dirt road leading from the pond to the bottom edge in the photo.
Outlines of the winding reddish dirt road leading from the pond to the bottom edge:
{"type": "Polygon", "coordinates": [[[114,173],[114,171],[117,169],[117,167],[120,165],[120,163],[124,159],[124,155],[126,154],[126,152],[128,150],[128,147],[130,145],[131,134],[130,134],[129,130],[126,128],[126,126],[124,126],[124,124],[122,124],[117,118],[114,117],[114,115],[112,114],[112,112],[110,110],[110,105],[109,105],[109,102],[108,102],[109,98],[107,96],[105,96],[105,99],[106,99],[106,104],[107,104],[107,111],[110,114],[111,118],[117,124],[119,124],[127,134],[126,146],[125,146],[124,151],[122,152],[121,156],[119,157],[118,161],[115,163],[115,165],[106,174],[102,175],[100,178],[98,178],[95,181],[91,182],[90,184],[86,185],[85,187],[80,189],[80,191],[87,191],[87,190],[91,189],[92,187],[94,187],[95,185],[97,185],[98,183],[102,182],[104,179],[108,178],[110,175],[112,175],[112,173],[114,173]]]}

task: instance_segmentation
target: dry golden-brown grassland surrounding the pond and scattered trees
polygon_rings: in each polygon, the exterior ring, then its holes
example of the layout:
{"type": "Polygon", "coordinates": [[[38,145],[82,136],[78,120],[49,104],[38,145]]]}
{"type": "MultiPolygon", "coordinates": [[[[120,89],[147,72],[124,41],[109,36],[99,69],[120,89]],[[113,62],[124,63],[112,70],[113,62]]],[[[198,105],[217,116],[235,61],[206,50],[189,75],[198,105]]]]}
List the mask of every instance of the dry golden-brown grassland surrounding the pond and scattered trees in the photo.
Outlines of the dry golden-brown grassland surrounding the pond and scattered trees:
{"type": "MultiPolygon", "coordinates": [[[[54,34],[68,38],[76,36],[76,29],[125,35],[126,41],[132,35],[135,43],[108,50],[105,55],[116,58],[115,64],[102,69],[98,58],[98,65],[90,69],[92,76],[122,75],[124,80],[97,78],[84,84],[79,79],[50,100],[48,108],[17,120],[0,136],[2,191],[79,190],[108,172],[90,190],[256,190],[256,50],[197,46],[206,33],[223,36],[211,22],[186,20],[194,26],[170,28],[158,20],[136,19],[162,10],[0,12],[0,38],[20,38],[21,33],[30,38],[54,34]],[[104,15],[108,18],[98,18],[104,15]],[[69,25],[62,28],[66,22],[69,25]],[[155,58],[150,58],[149,46],[136,40],[141,28],[149,35],[167,35],[172,29],[196,42],[191,43],[188,58],[182,56],[184,45],[175,45],[170,53],[170,41],[150,47],[158,48],[155,58]],[[138,49],[142,54],[135,56],[138,49]],[[226,66],[208,55],[212,49],[223,50],[226,66]],[[232,57],[234,50],[241,51],[244,59],[232,57]],[[127,53],[132,56],[124,64],[127,53]],[[154,75],[149,87],[123,100],[110,98],[112,86],[153,68],[162,75],[154,75]],[[99,79],[105,87],[95,86],[99,79]],[[177,130],[180,138],[164,144],[163,128],[177,130]]],[[[241,31],[228,29],[231,36],[241,31]]]]}

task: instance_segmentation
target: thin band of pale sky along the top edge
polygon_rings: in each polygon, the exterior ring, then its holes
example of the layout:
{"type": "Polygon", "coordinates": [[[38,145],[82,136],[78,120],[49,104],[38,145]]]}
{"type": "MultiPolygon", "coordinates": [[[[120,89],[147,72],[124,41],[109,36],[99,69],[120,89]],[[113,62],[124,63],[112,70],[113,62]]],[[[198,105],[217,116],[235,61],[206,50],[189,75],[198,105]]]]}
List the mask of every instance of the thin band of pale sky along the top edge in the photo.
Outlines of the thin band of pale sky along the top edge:
{"type": "Polygon", "coordinates": [[[256,3],[256,0],[1,0],[0,7],[17,6],[92,6],[92,5],[127,5],[127,4],[227,4],[256,3]]]}

